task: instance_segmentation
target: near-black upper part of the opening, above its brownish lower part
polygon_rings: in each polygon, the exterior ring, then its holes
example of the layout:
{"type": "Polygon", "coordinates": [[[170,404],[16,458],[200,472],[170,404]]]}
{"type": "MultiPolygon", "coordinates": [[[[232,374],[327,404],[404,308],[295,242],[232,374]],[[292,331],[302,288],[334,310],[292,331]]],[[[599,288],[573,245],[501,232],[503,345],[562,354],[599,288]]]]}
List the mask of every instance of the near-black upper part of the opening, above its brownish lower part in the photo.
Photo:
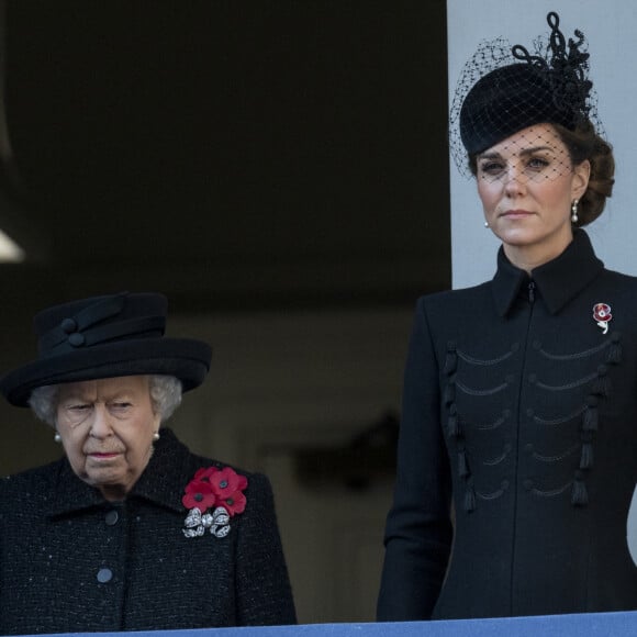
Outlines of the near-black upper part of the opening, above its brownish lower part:
{"type": "Polygon", "coordinates": [[[4,53],[5,303],[448,287],[443,0],[9,0],[4,53]]]}

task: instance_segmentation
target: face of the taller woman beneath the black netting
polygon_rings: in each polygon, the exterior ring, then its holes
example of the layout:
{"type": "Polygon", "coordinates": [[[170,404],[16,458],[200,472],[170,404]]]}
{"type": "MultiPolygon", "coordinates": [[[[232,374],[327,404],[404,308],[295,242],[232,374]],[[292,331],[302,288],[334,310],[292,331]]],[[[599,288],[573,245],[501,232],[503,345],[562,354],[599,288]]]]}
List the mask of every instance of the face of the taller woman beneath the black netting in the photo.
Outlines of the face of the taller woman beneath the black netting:
{"type": "Polygon", "coordinates": [[[571,204],[589,183],[590,164],[572,166],[550,124],[524,128],[477,157],[484,217],[516,266],[530,271],[572,241],[571,204]]]}

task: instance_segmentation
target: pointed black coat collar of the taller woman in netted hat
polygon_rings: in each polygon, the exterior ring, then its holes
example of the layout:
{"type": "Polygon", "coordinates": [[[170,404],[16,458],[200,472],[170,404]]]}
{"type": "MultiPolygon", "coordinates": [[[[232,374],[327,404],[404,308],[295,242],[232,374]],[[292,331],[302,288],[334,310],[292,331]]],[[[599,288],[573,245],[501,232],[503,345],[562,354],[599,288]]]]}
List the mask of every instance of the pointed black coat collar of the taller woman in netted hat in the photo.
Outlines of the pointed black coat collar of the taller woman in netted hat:
{"type": "MultiPolygon", "coordinates": [[[[604,264],[595,256],[589,235],[578,230],[567,249],[559,257],[533,270],[532,278],[548,312],[557,314],[603,267],[604,264]]],[[[528,275],[506,258],[501,246],[498,252],[498,271],[492,281],[500,316],[510,312],[522,286],[528,281],[528,275]]]]}

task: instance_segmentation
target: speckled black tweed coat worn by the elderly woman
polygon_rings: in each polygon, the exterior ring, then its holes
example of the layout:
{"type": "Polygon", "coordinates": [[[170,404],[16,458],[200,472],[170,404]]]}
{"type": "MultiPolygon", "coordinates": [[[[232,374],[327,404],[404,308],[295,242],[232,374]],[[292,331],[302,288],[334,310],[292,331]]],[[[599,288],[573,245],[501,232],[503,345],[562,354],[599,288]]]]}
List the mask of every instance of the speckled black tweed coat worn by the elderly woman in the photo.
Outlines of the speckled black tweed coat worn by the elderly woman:
{"type": "Polygon", "coordinates": [[[121,503],[66,459],[0,481],[0,634],[295,623],[266,477],[246,474],[226,537],[183,535],[183,489],[211,465],[161,429],[121,503]]]}

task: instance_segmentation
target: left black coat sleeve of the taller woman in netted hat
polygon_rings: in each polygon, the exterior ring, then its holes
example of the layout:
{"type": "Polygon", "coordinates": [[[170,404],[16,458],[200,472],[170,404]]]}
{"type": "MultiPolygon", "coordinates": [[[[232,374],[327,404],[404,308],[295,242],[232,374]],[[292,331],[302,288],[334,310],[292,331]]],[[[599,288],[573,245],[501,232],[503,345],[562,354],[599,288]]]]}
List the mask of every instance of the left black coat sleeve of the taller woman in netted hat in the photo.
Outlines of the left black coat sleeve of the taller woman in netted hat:
{"type": "Polygon", "coordinates": [[[385,526],[378,621],[431,618],[449,559],[450,503],[439,369],[421,299],[404,373],[398,473],[385,526]]]}

